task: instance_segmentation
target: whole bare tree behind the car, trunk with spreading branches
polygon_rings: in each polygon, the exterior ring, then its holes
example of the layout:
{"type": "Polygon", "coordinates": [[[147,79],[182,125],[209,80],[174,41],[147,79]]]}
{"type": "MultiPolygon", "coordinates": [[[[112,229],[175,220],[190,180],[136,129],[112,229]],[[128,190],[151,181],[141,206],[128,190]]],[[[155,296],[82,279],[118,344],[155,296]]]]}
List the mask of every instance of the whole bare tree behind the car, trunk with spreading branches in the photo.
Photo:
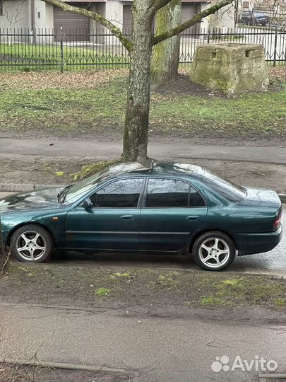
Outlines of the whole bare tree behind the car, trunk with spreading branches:
{"type": "Polygon", "coordinates": [[[155,13],[171,0],[133,0],[133,28],[132,37],[121,32],[116,25],[108,21],[99,13],[84,8],[68,5],[59,0],[43,0],[64,11],[78,13],[93,18],[108,28],[117,36],[130,54],[129,88],[126,102],[124,126],[124,144],[122,158],[125,161],[136,161],[147,158],[149,105],[150,105],[150,64],[153,47],[170,37],[179,35],[187,28],[201,21],[205,16],[215,13],[218,9],[230,4],[232,0],[222,0],[210,6],[185,23],[177,27],[168,28],[165,32],[153,35],[152,24],[155,13]]]}

